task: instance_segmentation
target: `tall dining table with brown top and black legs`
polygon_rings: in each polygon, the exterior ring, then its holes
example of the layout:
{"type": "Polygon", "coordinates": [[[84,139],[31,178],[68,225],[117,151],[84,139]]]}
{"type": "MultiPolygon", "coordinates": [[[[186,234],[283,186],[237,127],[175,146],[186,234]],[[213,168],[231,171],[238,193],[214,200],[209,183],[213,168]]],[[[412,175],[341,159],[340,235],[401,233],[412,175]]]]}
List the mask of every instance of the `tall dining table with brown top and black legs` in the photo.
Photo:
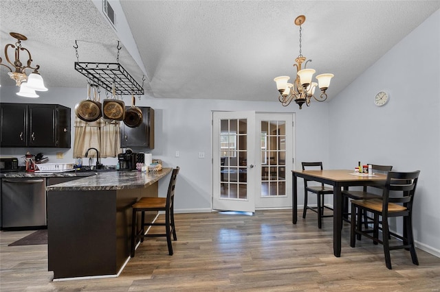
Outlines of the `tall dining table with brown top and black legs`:
{"type": "Polygon", "coordinates": [[[384,173],[355,173],[349,169],[326,170],[294,170],[292,195],[292,222],[297,223],[298,217],[298,178],[313,180],[333,186],[333,254],[341,256],[342,230],[342,194],[341,189],[348,190],[350,186],[368,186],[381,184],[386,181],[384,173]]]}

